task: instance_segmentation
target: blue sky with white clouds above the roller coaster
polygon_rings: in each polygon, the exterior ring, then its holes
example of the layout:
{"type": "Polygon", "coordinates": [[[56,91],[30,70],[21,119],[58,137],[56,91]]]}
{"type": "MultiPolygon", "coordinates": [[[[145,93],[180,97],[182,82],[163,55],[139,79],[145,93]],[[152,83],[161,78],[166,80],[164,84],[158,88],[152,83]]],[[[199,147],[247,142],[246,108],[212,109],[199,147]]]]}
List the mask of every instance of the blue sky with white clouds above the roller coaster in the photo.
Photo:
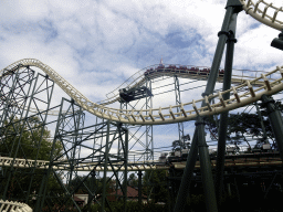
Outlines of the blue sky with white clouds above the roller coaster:
{"type": "MultiPolygon", "coordinates": [[[[88,99],[103,100],[161,57],[165,64],[211,66],[226,2],[1,0],[0,70],[38,59],[88,99]]],[[[279,33],[240,12],[233,67],[272,71],[283,65],[283,52],[270,46],[279,33]]]]}

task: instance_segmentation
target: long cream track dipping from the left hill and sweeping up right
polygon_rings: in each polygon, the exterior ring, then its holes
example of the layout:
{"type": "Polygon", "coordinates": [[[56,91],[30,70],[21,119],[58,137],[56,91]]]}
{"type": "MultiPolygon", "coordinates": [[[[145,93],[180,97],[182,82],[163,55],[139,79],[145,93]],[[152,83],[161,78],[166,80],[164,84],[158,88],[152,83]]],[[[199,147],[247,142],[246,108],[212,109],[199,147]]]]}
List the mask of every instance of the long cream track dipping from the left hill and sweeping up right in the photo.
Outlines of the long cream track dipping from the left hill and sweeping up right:
{"type": "Polygon", "coordinates": [[[71,98],[91,114],[108,120],[129,125],[163,125],[191,120],[197,116],[210,116],[249,105],[259,100],[263,94],[273,95],[283,89],[283,68],[277,66],[274,71],[269,72],[268,74],[262,74],[260,77],[252,81],[245,81],[243,84],[232,87],[229,91],[219,92],[189,103],[140,110],[116,109],[91,102],[54,70],[34,59],[21,60],[9,65],[4,70],[0,71],[0,76],[3,76],[4,73],[17,70],[20,66],[28,65],[42,70],[71,98]],[[276,77],[275,80],[274,76],[276,77]],[[242,93],[242,91],[247,92],[242,93]],[[231,98],[228,100],[222,98],[226,93],[231,93],[231,98]],[[211,105],[211,99],[214,99],[216,104],[211,105]],[[202,102],[206,103],[205,107],[200,106],[202,102]]]}

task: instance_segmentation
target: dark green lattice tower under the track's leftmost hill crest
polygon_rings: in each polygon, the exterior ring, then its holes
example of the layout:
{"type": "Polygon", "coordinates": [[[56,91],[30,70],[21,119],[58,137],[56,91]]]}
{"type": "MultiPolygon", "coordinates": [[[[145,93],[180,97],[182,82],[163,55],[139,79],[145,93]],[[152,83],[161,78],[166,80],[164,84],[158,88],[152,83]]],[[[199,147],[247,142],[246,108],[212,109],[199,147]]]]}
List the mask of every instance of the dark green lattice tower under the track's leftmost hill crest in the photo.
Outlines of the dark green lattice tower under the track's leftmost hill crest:
{"type": "MultiPolygon", "coordinates": [[[[7,149],[0,155],[13,158],[12,165],[18,158],[30,159],[31,155],[35,161],[41,159],[40,149],[45,139],[46,112],[50,108],[53,87],[54,83],[46,75],[39,73],[34,77],[34,71],[29,66],[17,66],[3,74],[0,131],[1,145],[7,149]],[[29,144],[27,144],[27,134],[30,135],[29,144]]],[[[33,165],[30,165],[28,169],[17,169],[13,166],[4,168],[6,178],[2,183],[6,184],[1,184],[2,199],[8,197],[9,199],[22,199],[28,203],[33,191],[38,191],[40,187],[34,184],[34,179],[44,176],[44,171],[35,169],[33,165]],[[22,184],[19,174],[22,177],[28,174],[29,182],[22,184]],[[12,188],[17,190],[17,194],[12,193],[12,188]]],[[[40,197],[38,197],[39,200],[40,197]]]]}

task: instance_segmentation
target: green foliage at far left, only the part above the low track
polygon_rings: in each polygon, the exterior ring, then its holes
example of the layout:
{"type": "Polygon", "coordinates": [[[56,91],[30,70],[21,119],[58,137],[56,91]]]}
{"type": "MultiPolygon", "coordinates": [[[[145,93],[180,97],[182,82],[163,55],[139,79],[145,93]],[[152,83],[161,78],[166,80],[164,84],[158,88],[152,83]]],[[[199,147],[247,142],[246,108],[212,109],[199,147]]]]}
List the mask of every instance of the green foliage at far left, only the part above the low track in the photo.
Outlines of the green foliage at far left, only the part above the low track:
{"type": "MultiPolygon", "coordinates": [[[[50,160],[53,140],[39,118],[32,117],[27,121],[14,118],[7,121],[0,131],[1,156],[50,160]]],[[[62,145],[59,141],[55,142],[54,156],[60,155],[62,150],[62,145]]]]}

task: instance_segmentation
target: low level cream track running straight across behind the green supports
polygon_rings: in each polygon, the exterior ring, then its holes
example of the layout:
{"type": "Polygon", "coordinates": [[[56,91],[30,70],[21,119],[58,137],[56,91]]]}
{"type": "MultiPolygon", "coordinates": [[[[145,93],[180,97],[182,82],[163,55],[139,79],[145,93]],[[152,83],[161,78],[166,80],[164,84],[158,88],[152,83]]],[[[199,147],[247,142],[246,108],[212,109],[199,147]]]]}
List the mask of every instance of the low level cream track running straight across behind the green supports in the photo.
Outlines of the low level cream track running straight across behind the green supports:
{"type": "MultiPolygon", "coordinates": [[[[243,155],[244,156],[244,155],[243,155]]],[[[49,169],[49,161],[45,160],[30,160],[30,159],[19,159],[15,160],[13,158],[0,157],[1,167],[14,167],[21,169],[28,168],[36,168],[36,169],[49,169]]],[[[211,166],[216,167],[216,160],[211,160],[211,166]]],[[[259,167],[259,166],[282,166],[283,161],[280,157],[263,157],[263,158],[240,158],[240,159],[226,159],[226,167],[259,167]]],[[[122,167],[123,163],[116,162],[113,163],[112,167],[108,166],[106,171],[124,171],[125,167],[122,167]]],[[[176,169],[184,169],[186,167],[186,161],[182,162],[172,162],[172,166],[176,169]]],[[[53,170],[70,170],[71,166],[64,161],[59,161],[57,165],[54,163],[52,166],[53,170]]],[[[200,168],[199,161],[197,161],[195,168],[200,168]]],[[[97,162],[83,163],[74,167],[75,171],[104,171],[104,166],[98,165],[97,162]]],[[[160,163],[159,161],[150,160],[150,161],[142,161],[142,162],[127,162],[128,171],[145,171],[145,170],[168,170],[170,169],[170,165],[160,163]]]]}

